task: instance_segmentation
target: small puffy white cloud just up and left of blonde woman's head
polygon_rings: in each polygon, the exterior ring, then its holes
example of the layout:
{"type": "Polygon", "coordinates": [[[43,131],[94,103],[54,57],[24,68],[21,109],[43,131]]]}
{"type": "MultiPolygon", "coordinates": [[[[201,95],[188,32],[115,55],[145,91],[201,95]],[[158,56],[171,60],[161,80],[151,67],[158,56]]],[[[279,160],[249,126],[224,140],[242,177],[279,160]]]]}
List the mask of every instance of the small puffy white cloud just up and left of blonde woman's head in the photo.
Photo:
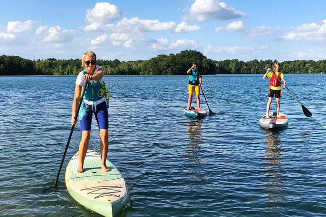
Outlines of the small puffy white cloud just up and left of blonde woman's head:
{"type": "Polygon", "coordinates": [[[72,36],[76,34],[75,30],[63,30],[60,26],[53,26],[48,30],[47,35],[42,40],[43,42],[65,42],[71,41],[72,36]]]}

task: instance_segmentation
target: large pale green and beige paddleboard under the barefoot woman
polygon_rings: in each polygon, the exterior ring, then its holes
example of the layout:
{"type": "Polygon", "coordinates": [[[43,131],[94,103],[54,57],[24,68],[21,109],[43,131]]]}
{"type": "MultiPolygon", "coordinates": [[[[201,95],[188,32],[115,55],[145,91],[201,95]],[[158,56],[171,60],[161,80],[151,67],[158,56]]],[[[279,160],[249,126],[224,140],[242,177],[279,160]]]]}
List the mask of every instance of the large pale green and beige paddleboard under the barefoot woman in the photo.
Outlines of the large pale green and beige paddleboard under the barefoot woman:
{"type": "Polygon", "coordinates": [[[115,216],[128,200],[127,184],[118,169],[106,160],[111,170],[101,169],[100,154],[87,150],[84,172],[77,173],[78,152],[66,169],[66,185],[71,197],[79,204],[104,216],[115,216]]]}

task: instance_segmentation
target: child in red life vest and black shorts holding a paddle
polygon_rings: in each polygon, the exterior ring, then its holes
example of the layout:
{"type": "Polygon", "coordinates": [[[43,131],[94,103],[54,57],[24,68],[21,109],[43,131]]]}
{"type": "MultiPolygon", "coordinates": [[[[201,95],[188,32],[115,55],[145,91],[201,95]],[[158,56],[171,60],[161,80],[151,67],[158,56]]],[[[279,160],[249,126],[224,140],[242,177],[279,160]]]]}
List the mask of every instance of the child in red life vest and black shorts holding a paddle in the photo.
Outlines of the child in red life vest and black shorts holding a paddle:
{"type": "Polygon", "coordinates": [[[268,89],[268,101],[266,106],[266,117],[269,118],[269,108],[271,101],[273,100],[273,97],[275,95],[276,98],[276,113],[277,117],[280,118],[280,98],[282,97],[282,89],[281,84],[283,83],[283,86],[286,87],[286,82],[284,79],[284,75],[281,72],[281,64],[278,62],[274,63],[273,71],[268,68],[267,72],[264,74],[263,79],[270,78],[269,80],[269,89],[268,89]],[[282,82],[281,82],[282,80],[282,82]]]}

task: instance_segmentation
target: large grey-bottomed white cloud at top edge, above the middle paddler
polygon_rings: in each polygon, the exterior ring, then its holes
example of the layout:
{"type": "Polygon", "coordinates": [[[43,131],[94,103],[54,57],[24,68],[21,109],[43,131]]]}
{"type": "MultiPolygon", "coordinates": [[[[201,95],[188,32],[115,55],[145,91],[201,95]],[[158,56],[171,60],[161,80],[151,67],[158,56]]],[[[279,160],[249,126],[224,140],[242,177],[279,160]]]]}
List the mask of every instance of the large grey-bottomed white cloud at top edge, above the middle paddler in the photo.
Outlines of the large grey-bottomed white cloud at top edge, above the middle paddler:
{"type": "Polygon", "coordinates": [[[218,0],[195,0],[184,20],[205,21],[208,19],[229,20],[246,17],[243,12],[236,11],[224,2],[218,0]]]}

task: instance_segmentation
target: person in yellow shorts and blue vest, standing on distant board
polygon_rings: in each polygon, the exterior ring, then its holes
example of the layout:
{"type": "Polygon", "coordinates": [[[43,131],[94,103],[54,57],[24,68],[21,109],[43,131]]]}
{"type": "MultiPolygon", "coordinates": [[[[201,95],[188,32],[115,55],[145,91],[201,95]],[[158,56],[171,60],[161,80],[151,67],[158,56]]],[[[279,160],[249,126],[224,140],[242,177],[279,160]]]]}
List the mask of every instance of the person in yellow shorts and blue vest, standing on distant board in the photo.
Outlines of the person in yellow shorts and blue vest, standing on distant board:
{"type": "Polygon", "coordinates": [[[198,71],[196,62],[193,62],[193,66],[190,69],[188,69],[187,74],[189,74],[189,84],[188,84],[189,97],[188,97],[188,107],[186,108],[186,110],[191,109],[194,91],[195,91],[196,100],[197,100],[197,110],[201,110],[200,98],[199,98],[199,94],[200,94],[199,88],[202,84],[202,75],[198,71]]]}

